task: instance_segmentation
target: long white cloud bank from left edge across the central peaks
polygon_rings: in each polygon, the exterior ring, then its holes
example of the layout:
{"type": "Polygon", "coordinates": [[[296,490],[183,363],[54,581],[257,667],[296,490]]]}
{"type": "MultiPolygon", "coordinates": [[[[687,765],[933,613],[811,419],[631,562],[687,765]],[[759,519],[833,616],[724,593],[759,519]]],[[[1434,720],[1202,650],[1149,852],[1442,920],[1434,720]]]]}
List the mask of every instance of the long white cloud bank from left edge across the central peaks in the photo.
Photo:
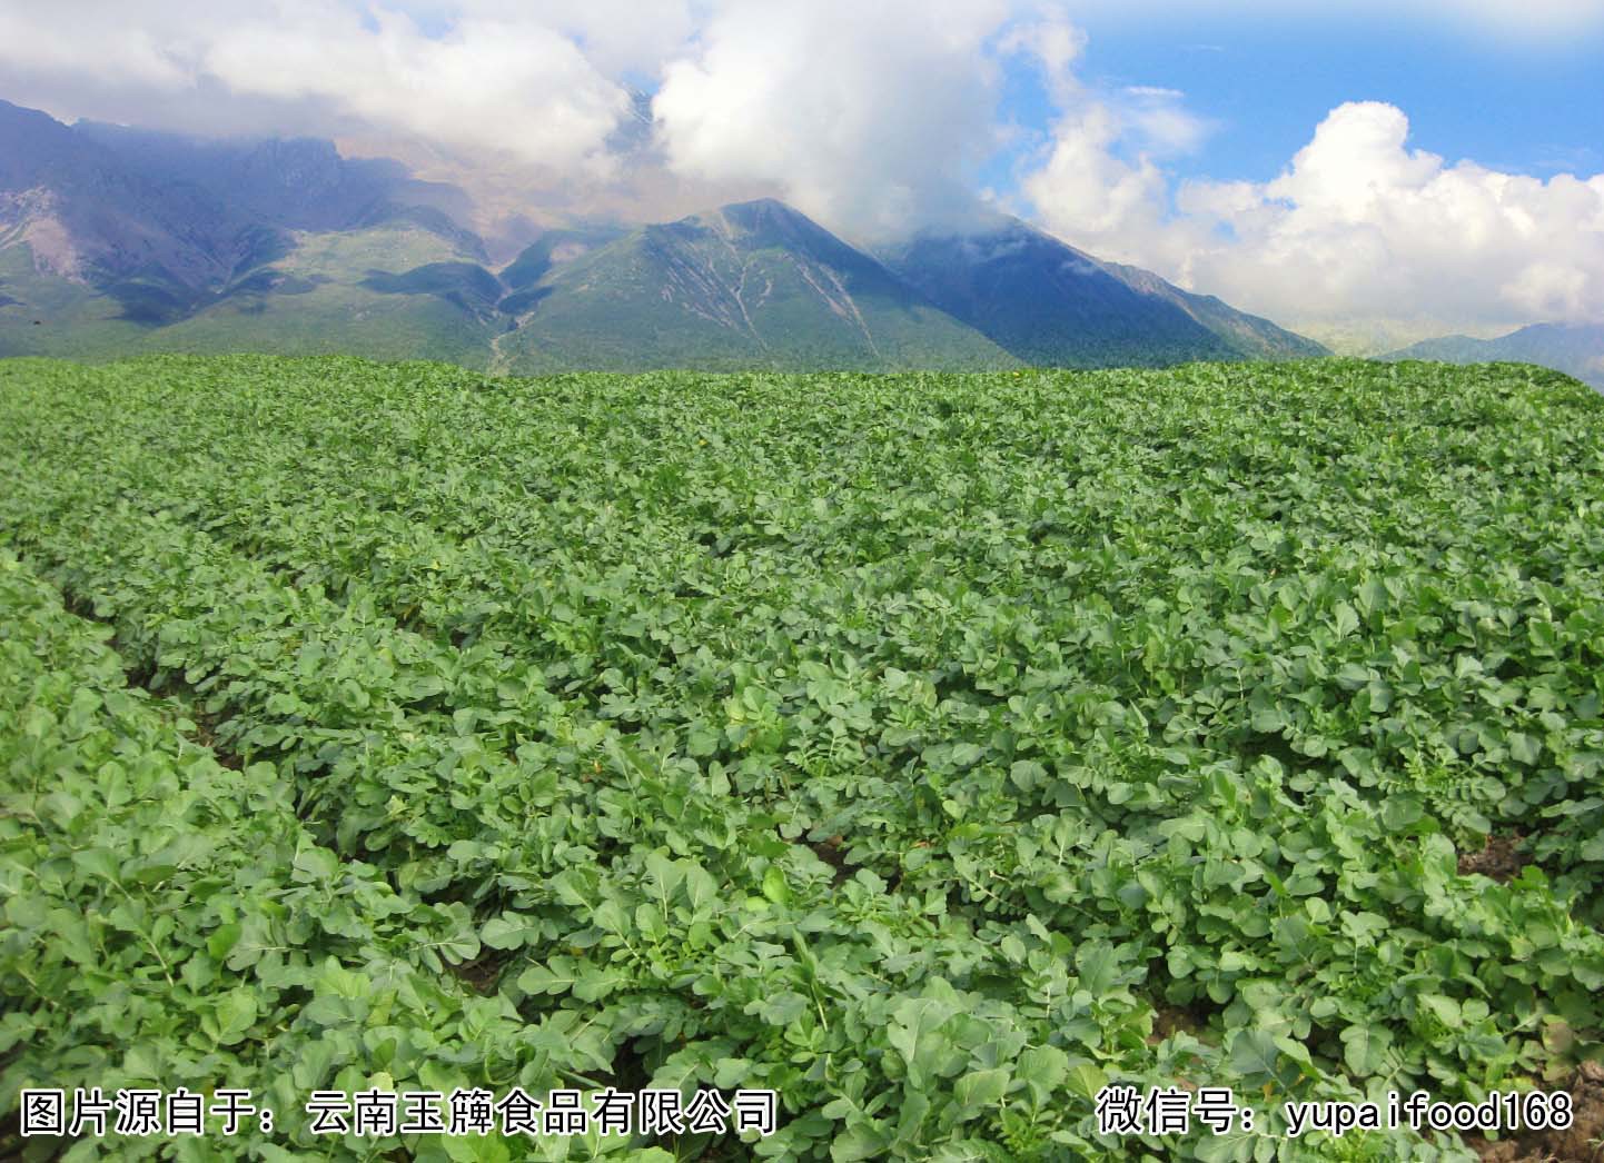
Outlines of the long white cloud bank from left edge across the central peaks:
{"type": "Polygon", "coordinates": [[[0,95],[66,120],[311,133],[464,184],[486,218],[780,194],[857,237],[982,205],[999,37],[1047,0],[77,0],[0,6],[0,95]],[[654,133],[638,93],[656,88],[654,133]]]}

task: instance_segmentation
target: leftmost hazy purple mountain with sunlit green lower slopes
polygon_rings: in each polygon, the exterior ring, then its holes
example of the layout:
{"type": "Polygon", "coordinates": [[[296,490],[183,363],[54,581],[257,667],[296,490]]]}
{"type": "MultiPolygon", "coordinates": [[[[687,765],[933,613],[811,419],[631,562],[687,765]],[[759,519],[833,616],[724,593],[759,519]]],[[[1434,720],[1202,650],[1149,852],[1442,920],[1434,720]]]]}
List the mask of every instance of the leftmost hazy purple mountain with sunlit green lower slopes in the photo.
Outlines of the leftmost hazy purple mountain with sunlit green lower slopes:
{"type": "Polygon", "coordinates": [[[483,245],[391,162],[0,103],[0,355],[351,351],[484,361],[486,321],[364,286],[483,245]]]}

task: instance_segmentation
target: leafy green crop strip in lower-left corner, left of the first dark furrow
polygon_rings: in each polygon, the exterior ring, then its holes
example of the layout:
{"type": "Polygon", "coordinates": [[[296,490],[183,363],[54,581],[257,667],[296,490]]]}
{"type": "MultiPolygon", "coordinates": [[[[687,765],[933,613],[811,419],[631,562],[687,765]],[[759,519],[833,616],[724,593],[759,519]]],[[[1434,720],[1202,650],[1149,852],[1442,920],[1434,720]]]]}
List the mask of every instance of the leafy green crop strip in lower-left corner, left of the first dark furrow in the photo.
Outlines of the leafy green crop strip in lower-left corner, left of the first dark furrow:
{"type": "MultiPolygon", "coordinates": [[[[574,1075],[582,1039],[560,1015],[526,1025],[438,972],[476,950],[465,906],[319,845],[273,765],[220,764],[180,706],[125,683],[106,637],[0,550],[0,1102],[24,1086],[244,1088],[279,1118],[277,1136],[245,1120],[257,1157],[290,1158],[284,1144],[319,1145],[297,1118],[318,1088],[502,1081],[470,1044],[531,1084],[574,1075]]],[[[217,1157],[217,1142],[119,1142],[130,1158],[164,1149],[217,1157]]],[[[415,1144],[415,1158],[448,1155],[415,1144]]]]}

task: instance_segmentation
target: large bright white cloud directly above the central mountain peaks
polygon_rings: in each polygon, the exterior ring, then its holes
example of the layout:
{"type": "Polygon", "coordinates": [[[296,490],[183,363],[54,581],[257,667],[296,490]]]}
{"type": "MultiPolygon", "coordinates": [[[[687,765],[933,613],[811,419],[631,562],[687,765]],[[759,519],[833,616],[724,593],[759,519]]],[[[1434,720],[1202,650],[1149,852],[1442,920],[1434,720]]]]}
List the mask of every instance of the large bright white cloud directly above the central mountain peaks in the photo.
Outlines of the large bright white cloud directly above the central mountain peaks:
{"type": "Polygon", "coordinates": [[[858,237],[975,210],[1001,0],[780,0],[715,14],[653,101],[669,164],[765,181],[858,237]]]}

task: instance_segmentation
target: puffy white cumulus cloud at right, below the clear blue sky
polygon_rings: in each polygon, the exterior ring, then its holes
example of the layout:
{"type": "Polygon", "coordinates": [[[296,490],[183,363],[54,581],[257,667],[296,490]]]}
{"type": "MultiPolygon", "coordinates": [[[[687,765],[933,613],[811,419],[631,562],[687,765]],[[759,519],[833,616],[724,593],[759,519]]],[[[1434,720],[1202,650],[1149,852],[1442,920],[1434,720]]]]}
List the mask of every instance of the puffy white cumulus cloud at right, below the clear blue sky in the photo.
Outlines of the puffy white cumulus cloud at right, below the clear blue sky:
{"type": "Polygon", "coordinates": [[[1025,191],[1076,245],[1338,342],[1604,319],[1604,175],[1450,165],[1407,138],[1400,109],[1349,103],[1274,181],[1173,186],[1081,114],[1025,191]]]}

